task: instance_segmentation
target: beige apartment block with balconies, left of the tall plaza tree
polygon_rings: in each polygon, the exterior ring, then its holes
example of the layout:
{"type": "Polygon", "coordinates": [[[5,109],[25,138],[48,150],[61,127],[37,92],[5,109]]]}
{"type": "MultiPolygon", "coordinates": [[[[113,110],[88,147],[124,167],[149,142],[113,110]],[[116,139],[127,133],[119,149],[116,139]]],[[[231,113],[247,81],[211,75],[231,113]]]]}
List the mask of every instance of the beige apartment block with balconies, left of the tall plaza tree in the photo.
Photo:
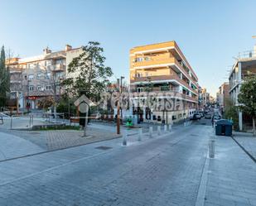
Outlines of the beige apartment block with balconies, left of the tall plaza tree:
{"type": "Polygon", "coordinates": [[[11,98],[17,98],[19,108],[39,108],[44,98],[60,98],[61,81],[69,75],[68,64],[83,52],[82,47],[52,52],[49,48],[42,55],[7,60],[11,78],[11,98]]]}

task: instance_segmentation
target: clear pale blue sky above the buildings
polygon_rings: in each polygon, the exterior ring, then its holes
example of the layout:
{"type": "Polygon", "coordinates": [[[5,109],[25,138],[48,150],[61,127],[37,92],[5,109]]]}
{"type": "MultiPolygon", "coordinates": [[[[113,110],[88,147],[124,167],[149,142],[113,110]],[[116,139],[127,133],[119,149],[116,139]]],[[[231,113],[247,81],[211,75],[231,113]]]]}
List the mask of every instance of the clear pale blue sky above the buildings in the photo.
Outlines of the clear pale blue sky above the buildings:
{"type": "Polygon", "coordinates": [[[254,0],[0,0],[0,44],[20,57],[99,41],[114,77],[128,78],[133,46],[175,40],[215,95],[239,51],[256,40],[254,0]]]}

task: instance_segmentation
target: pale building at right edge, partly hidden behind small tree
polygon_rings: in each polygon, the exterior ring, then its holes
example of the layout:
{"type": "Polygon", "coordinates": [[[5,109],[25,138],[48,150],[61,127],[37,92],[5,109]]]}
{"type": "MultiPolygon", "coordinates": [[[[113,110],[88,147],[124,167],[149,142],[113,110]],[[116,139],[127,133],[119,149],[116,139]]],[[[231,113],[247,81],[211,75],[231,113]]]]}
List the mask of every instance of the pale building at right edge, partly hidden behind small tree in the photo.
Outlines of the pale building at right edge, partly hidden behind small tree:
{"type": "MultiPolygon", "coordinates": [[[[240,53],[229,74],[229,97],[234,106],[239,106],[238,95],[246,77],[256,75],[256,46],[254,50],[240,53]]],[[[239,111],[239,130],[250,130],[252,118],[239,111]]]]}

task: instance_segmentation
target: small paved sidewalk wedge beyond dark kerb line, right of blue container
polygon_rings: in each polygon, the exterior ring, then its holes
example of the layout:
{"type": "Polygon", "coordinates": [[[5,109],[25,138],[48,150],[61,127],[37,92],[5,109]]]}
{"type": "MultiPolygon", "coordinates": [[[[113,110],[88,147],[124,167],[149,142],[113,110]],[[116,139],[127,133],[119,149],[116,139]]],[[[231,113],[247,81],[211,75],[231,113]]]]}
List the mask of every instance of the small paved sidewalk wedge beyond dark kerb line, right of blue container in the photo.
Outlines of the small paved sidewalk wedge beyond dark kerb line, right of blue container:
{"type": "Polygon", "coordinates": [[[256,159],[256,137],[248,132],[234,132],[234,139],[256,159]]]}

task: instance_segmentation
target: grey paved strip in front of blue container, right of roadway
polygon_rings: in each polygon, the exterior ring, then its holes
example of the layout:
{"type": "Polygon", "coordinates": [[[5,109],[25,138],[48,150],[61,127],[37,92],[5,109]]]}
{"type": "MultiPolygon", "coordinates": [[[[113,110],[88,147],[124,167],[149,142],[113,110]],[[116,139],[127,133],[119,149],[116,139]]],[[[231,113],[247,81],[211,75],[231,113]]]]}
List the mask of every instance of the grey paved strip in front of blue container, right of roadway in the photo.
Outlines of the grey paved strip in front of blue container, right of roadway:
{"type": "Polygon", "coordinates": [[[205,206],[256,205],[256,164],[230,137],[215,137],[205,206]]]}

